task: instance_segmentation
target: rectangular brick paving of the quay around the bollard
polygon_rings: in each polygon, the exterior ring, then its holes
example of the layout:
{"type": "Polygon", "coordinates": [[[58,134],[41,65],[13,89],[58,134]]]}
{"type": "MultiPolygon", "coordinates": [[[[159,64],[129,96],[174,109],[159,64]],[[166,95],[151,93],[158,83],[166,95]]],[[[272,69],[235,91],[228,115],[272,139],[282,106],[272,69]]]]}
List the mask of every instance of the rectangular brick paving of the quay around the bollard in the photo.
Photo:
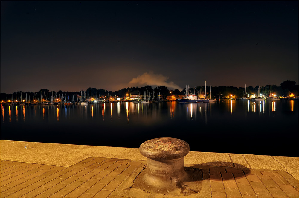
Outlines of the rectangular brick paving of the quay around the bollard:
{"type": "MultiPolygon", "coordinates": [[[[1,197],[170,197],[130,191],[146,161],[89,157],[70,167],[0,162],[1,197]]],[[[205,183],[205,193],[187,197],[299,197],[298,181],[285,171],[186,166],[201,168],[198,182],[205,183]]]]}

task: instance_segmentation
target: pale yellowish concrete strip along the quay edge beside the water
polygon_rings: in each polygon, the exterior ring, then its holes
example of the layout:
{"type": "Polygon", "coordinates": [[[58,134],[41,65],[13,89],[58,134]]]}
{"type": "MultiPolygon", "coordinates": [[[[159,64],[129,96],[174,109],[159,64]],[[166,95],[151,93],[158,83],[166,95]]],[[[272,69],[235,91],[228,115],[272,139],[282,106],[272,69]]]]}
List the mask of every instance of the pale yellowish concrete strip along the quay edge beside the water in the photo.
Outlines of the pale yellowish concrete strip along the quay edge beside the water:
{"type": "MultiPolygon", "coordinates": [[[[91,156],[146,161],[146,157],[142,156],[137,148],[85,146],[10,140],[0,140],[0,156],[1,160],[65,167],[74,165],[91,156]],[[25,143],[28,143],[27,149],[24,147],[25,143]]],[[[281,170],[286,171],[296,180],[299,180],[298,157],[190,151],[184,159],[185,164],[281,170]]]]}

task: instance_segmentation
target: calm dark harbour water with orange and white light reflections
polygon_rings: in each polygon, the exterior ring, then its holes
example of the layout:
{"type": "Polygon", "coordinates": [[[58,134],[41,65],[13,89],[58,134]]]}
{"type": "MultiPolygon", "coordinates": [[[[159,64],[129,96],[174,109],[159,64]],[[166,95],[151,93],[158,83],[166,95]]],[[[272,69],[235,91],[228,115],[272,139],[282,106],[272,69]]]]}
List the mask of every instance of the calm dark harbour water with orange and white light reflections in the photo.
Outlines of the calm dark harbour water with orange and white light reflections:
{"type": "Polygon", "coordinates": [[[298,157],[298,100],[1,105],[1,140],[139,148],[157,137],[190,151],[298,157]]]}

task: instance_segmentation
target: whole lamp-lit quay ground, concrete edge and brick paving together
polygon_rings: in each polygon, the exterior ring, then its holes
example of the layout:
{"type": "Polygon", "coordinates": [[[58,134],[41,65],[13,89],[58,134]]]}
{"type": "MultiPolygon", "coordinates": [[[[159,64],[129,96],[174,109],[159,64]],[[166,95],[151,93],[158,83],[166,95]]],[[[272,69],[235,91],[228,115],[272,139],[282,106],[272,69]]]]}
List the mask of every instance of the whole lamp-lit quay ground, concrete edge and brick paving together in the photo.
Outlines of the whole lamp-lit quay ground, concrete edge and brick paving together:
{"type": "Polygon", "coordinates": [[[200,179],[179,192],[138,185],[138,148],[0,140],[0,159],[1,197],[298,197],[298,157],[190,151],[200,179]]]}

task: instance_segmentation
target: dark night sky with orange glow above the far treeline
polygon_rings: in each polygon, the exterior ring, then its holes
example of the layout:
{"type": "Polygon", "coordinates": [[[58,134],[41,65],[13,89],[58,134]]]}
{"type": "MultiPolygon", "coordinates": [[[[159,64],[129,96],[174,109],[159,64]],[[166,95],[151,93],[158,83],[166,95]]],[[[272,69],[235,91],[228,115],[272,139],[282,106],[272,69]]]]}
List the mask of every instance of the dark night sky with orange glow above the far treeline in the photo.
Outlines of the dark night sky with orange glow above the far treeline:
{"type": "Polygon", "coordinates": [[[298,84],[298,1],[1,1],[1,90],[298,84]]]}

